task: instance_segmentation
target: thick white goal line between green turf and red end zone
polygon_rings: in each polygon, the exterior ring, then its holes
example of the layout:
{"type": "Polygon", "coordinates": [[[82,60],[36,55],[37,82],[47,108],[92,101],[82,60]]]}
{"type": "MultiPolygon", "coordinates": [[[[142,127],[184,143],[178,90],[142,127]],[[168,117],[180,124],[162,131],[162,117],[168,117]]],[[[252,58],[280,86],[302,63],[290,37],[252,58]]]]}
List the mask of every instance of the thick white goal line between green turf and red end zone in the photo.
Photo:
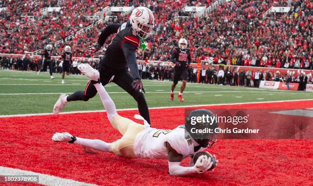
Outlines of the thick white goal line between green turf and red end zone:
{"type": "MultiPolygon", "coordinates": [[[[313,99],[294,99],[294,100],[281,100],[281,101],[258,101],[258,102],[219,103],[219,104],[197,104],[197,105],[184,105],[184,106],[174,106],[174,107],[152,107],[152,108],[149,108],[149,110],[153,110],[153,109],[157,109],[157,110],[158,109],[170,109],[170,108],[209,107],[209,106],[220,106],[220,105],[254,104],[254,103],[279,103],[279,102],[292,102],[292,101],[313,101],[313,99]]],[[[138,110],[138,109],[137,108],[117,109],[117,111],[136,111],[136,110],[138,110]]],[[[104,111],[104,110],[98,110],[98,111],[70,111],[70,112],[62,112],[60,114],[97,113],[97,112],[106,112],[106,111],[104,111]]],[[[43,115],[53,115],[53,113],[0,115],[0,118],[25,117],[25,116],[43,116],[43,115]]]]}

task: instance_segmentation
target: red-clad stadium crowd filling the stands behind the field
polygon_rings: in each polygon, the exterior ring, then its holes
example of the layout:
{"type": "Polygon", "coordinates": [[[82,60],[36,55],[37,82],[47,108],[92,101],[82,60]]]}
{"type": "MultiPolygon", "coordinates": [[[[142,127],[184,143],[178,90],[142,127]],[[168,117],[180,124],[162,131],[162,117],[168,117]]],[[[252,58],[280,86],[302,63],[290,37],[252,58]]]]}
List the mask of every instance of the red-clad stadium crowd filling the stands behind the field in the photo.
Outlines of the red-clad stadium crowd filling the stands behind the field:
{"type": "MultiPolygon", "coordinates": [[[[277,68],[312,69],[312,8],[307,0],[292,1],[288,14],[270,13],[271,6],[287,6],[287,1],[226,1],[202,19],[184,17],[182,9],[188,6],[209,6],[214,1],[12,1],[1,3],[9,11],[1,11],[2,26],[0,53],[24,54],[24,51],[42,49],[75,34],[87,25],[95,24],[85,15],[93,15],[105,6],[146,6],[155,15],[156,34],[149,37],[147,48],[137,50],[141,60],[169,61],[170,51],[177,40],[189,41],[193,62],[211,61],[213,64],[261,66],[277,68]],[[88,6],[85,6],[86,3],[88,6]],[[35,15],[44,7],[62,7],[41,19],[31,21],[21,15],[35,15]],[[27,8],[25,8],[27,7],[27,8]],[[22,12],[22,13],[17,13],[22,12]],[[183,16],[183,17],[180,17],[183,16]],[[16,32],[8,32],[18,25],[27,24],[16,32]]],[[[127,16],[113,13],[104,24],[76,35],[72,40],[55,45],[59,55],[65,44],[72,47],[75,57],[90,57],[87,46],[97,40],[106,24],[124,22],[127,16]]],[[[39,15],[35,15],[39,16],[39,15]]],[[[129,15],[128,15],[129,16],[129,15]]],[[[107,41],[109,43],[110,40],[107,41]]],[[[104,48],[105,50],[105,48],[104,48]]],[[[101,54],[101,52],[100,52],[101,54]]]]}

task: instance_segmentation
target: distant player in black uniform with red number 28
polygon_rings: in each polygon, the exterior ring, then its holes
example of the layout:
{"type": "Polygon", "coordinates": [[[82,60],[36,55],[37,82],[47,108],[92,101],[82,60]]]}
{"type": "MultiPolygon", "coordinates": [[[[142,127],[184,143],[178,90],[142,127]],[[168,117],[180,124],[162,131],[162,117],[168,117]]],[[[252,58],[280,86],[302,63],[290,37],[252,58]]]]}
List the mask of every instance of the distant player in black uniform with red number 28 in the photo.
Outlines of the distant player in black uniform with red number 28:
{"type": "Polygon", "coordinates": [[[172,84],[172,90],[171,90],[171,100],[174,100],[174,90],[175,87],[182,79],[183,84],[181,85],[181,91],[178,93],[178,98],[180,98],[180,101],[184,101],[183,98],[183,92],[186,87],[187,79],[188,79],[188,68],[191,63],[191,55],[190,50],[187,48],[187,40],[184,38],[181,38],[180,41],[178,41],[178,47],[173,48],[172,56],[171,56],[171,62],[175,64],[174,67],[174,78],[173,78],[173,84],[172,84]]]}

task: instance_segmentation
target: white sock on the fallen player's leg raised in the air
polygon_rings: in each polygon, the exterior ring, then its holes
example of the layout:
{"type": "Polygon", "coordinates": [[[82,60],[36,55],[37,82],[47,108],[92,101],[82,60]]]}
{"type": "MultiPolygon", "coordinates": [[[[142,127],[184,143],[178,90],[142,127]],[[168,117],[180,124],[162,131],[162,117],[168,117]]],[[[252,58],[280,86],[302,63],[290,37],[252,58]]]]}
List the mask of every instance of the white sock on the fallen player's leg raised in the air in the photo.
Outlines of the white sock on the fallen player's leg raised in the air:
{"type": "Polygon", "coordinates": [[[115,104],[101,83],[94,84],[94,86],[100,95],[103,107],[106,110],[107,117],[111,121],[112,117],[117,115],[115,104]]]}

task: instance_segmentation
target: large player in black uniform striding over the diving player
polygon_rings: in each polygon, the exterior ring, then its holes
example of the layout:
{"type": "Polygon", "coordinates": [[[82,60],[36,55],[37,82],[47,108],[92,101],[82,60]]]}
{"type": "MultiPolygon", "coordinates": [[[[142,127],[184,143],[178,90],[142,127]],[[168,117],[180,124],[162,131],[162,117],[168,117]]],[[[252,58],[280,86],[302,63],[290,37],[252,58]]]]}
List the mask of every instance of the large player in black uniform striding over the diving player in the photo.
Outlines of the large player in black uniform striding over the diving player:
{"type": "MultiPolygon", "coordinates": [[[[152,33],[153,28],[154,16],[152,11],[146,7],[137,7],[132,11],[127,22],[107,25],[101,32],[98,42],[89,47],[91,54],[93,54],[103,46],[109,35],[116,34],[98,65],[100,82],[104,86],[114,82],[128,92],[137,101],[141,116],[149,123],[149,110],[143,95],[144,89],[138,71],[135,51],[140,46],[140,41],[152,33]],[[129,73],[128,68],[131,73],[129,73]]],[[[83,68],[84,65],[78,66],[80,71],[83,71],[83,68]]],[[[84,91],[77,91],[68,96],[61,94],[54,105],[53,113],[57,115],[68,101],[87,101],[96,94],[97,90],[93,82],[90,81],[84,91]]]]}

